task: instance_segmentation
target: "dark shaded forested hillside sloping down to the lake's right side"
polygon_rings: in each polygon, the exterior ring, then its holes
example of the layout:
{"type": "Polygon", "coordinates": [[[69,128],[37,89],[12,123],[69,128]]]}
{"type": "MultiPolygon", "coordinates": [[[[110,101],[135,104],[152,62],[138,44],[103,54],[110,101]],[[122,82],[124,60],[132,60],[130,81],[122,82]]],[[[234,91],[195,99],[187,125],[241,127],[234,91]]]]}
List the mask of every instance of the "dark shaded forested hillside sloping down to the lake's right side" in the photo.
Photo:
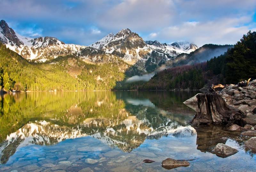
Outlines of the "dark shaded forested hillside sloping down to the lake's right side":
{"type": "Polygon", "coordinates": [[[207,62],[165,69],[148,82],[137,82],[140,83],[137,89],[201,89],[207,82],[237,83],[249,78],[256,79],[256,32],[251,31],[227,53],[207,62]]]}

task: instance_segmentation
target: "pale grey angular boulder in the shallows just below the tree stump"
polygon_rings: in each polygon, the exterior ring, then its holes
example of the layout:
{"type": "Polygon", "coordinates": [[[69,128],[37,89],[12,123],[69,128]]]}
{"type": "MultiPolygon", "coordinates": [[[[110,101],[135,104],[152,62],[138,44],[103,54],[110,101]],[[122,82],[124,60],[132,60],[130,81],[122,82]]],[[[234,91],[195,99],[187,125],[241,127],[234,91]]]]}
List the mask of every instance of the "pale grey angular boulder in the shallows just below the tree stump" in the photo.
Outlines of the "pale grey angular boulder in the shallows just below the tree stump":
{"type": "Polygon", "coordinates": [[[218,143],[212,151],[214,154],[216,154],[217,156],[219,156],[221,158],[226,158],[226,157],[236,154],[238,152],[238,150],[236,150],[230,146],[227,146],[223,143],[218,143]]]}

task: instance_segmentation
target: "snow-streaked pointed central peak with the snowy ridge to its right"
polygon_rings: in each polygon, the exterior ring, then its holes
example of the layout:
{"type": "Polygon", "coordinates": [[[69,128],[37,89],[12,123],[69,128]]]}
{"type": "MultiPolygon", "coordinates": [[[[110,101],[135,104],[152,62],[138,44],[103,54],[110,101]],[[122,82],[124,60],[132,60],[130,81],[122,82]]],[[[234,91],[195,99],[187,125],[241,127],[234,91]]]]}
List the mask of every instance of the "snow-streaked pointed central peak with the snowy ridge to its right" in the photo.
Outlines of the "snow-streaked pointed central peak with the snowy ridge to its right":
{"type": "Polygon", "coordinates": [[[166,61],[173,60],[177,55],[190,53],[198,48],[189,42],[162,44],[157,40],[144,41],[130,29],[123,29],[116,35],[110,33],[90,47],[107,54],[114,54],[144,72],[151,72],[166,61]]]}

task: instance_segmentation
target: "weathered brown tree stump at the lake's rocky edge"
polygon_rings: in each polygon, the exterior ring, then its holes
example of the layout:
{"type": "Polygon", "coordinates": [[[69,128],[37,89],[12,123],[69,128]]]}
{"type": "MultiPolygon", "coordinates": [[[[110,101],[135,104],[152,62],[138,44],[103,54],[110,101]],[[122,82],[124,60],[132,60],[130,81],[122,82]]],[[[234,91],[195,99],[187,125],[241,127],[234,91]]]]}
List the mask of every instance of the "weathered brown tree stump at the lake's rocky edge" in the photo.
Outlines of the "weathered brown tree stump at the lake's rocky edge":
{"type": "Polygon", "coordinates": [[[245,117],[242,111],[226,104],[216,93],[198,94],[196,98],[197,111],[192,119],[194,125],[232,123],[245,117]]]}

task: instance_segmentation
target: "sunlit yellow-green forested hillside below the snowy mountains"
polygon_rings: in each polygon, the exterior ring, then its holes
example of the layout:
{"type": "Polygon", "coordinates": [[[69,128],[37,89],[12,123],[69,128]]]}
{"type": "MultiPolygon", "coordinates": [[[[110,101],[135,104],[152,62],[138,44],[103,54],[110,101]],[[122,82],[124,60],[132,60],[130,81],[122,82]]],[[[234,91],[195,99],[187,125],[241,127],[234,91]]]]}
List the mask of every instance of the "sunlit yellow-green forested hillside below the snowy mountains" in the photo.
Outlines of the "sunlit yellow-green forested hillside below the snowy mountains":
{"type": "Polygon", "coordinates": [[[124,79],[123,61],[88,64],[74,56],[33,63],[0,43],[0,81],[5,90],[111,90],[124,79]]]}

